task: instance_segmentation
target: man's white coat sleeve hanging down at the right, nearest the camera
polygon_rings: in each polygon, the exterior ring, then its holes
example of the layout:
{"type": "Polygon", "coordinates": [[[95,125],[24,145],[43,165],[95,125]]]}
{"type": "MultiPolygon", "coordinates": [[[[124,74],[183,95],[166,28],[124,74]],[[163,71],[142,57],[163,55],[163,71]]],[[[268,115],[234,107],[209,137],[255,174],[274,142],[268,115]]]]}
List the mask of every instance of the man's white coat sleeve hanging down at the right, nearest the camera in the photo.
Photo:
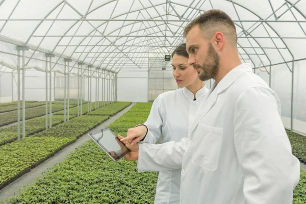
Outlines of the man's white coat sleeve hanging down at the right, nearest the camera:
{"type": "Polygon", "coordinates": [[[277,95],[268,88],[248,88],[238,97],[234,141],[244,174],[244,204],[292,203],[300,165],[280,109],[277,95]]]}

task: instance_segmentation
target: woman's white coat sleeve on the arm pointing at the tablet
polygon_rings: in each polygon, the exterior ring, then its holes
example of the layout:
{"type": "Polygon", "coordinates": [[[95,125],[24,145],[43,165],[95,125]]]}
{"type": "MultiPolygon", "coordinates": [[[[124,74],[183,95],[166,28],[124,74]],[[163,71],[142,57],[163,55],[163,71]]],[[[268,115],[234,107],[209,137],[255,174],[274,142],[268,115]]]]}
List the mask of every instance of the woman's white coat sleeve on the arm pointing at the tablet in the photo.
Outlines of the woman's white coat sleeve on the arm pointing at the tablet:
{"type": "Polygon", "coordinates": [[[147,126],[148,132],[143,140],[145,143],[155,144],[162,134],[162,126],[166,115],[163,111],[163,104],[161,96],[158,96],[151,107],[150,114],[144,125],[147,126]]]}

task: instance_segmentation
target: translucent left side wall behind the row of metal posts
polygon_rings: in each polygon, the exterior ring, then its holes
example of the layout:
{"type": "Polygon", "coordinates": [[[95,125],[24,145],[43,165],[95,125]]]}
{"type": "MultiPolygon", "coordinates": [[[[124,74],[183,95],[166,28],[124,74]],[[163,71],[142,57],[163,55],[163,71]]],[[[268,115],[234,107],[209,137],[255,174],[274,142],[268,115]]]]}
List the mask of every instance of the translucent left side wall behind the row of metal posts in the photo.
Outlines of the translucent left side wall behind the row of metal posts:
{"type": "MultiPolygon", "coordinates": [[[[10,72],[0,72],[0,103],[6,103],[11,101],[17,101],[17,74],[10,72]],[[15,80],[13,79],[13,75],[15,80]]],[[[20,72],[20,77],[22,71],[20,72]]],[[[96,95],[96,79],[92,78],[91,84],[91,100],[101,101],[103,99],[103,83],[102,79],[99,79],[99,94],[96,95]]],[[[64,100],[64,77],[60,73],[52,72],[52,101],[64,100]],[[54,86],[55,85],[55,86],[54,86]]],[[[22,96],[22,80],[20,80],[20,96],[22,96]]],[[[78,78],[75,75],[69,77],[69,98],[72,100],[78,99],[78,78]]],[[[48,73],[48,100],[49,100],[49,73],[48,73]]],[[[81,89],[81,88],[80,88],[81,89]]],[[[88,98],[88,78],[82,80],[83,99],[90,99],[90,92],[88,98]]],[[[105,100],[107,100],[107,80],[104,86],[105,100]]],[[[109,87],[110,94],[112,93],[112,86],[109,87]]],[[[45,73],[37,71],[35,69],[28,69],[25,71],[25,100],[37,100],[45,101],[45,73]]],[[[67,94],[67,93],[66,93],[67,94]]],[[[111,97],[111,95],[110,95],[111,97]]],[[[21,97],[22,98],[22,97],[21,97]]]]}

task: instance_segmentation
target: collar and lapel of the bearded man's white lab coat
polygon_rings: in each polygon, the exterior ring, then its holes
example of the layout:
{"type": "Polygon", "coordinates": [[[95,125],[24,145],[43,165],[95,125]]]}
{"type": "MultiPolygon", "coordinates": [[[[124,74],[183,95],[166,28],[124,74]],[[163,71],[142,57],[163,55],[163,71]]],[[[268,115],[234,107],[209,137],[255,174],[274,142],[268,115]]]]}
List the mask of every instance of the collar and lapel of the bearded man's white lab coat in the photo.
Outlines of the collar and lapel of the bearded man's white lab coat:
{"type": "Polygon", "coordinates": [[[248,64],[241,64],[234,69],[232,69],[230,72],[228,72],[225,77],[217,84],[216,82],[213,84],[211,89],[209,90],[207,94],[207,99],[200,105],[199,111],[197,112],[197,115],[195,116],[195,119],[193,120],[193,123],[191,125],[190,129],[190,135],[189,138],[192,139],[193,137],[193,131],[196,129],[198,122],[208,113],[208,111],[213,107],[215,104],[215,101],[218,97],[218,94],[223,92],[225,89],[231,86],[239,77],[241,74],[245,72],[251,72],[252,69],[248,64]]]}

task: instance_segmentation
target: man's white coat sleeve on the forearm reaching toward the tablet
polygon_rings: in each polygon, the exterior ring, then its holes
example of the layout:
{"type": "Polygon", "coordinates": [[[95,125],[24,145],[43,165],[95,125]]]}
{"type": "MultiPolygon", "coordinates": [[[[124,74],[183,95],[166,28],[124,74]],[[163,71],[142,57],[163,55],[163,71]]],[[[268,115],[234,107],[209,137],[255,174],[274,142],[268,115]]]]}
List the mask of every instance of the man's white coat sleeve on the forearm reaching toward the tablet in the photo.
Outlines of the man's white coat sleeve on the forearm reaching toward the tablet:
{"type": "Polygon", "coordinates": [[[139,144],[138,172],[181,169],[183,156],[189,143],[189,138],[182,138],[180,142],[139,144]]]}

